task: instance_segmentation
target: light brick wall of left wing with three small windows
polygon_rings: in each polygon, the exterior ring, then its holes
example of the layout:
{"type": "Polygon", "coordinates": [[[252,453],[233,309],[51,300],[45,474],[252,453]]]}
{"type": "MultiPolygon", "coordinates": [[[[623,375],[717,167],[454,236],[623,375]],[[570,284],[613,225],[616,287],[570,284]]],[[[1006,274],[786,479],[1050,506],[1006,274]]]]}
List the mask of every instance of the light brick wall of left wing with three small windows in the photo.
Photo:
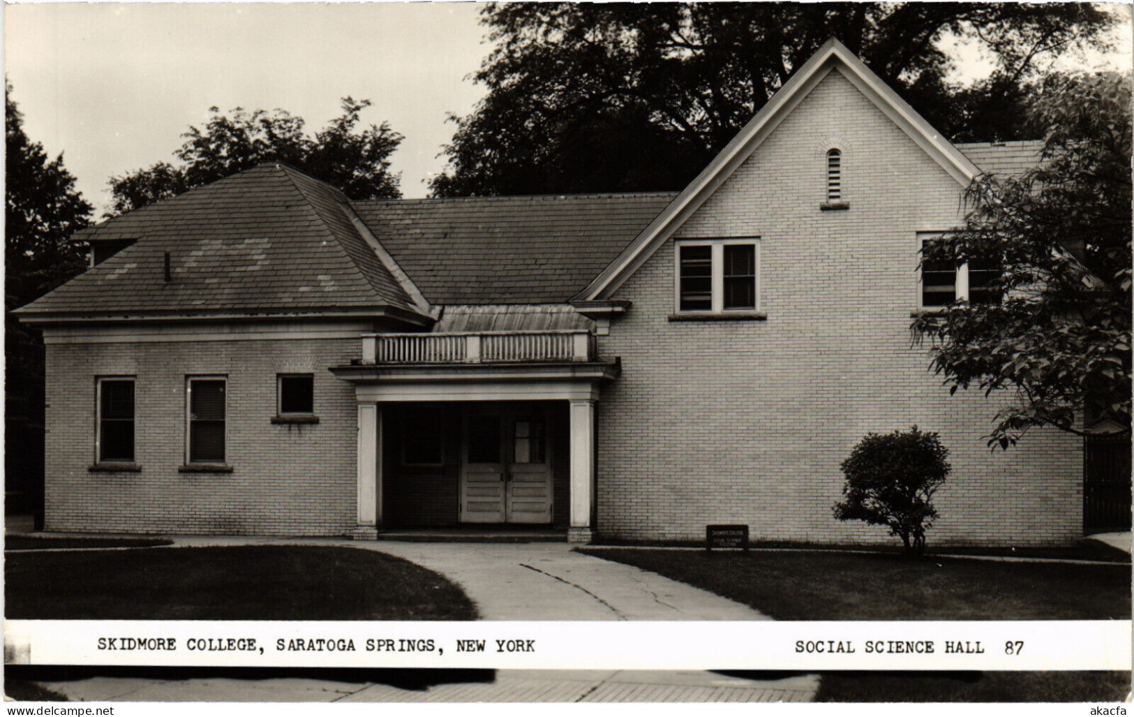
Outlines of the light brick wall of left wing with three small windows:
{"type": "Polygon", "coordinates": [[[338,535],[355,525],[354,387],[328,366],[357,339],[49,345],[45,528],[338,535]],[[276,425],[276,374],[315,377],[313,425],[276,425]],[[94,462],[95,378],[134,374],[137,473],[94,462]],[[231,473],[180,473],[185,378],[228,376],[231,473]]]}

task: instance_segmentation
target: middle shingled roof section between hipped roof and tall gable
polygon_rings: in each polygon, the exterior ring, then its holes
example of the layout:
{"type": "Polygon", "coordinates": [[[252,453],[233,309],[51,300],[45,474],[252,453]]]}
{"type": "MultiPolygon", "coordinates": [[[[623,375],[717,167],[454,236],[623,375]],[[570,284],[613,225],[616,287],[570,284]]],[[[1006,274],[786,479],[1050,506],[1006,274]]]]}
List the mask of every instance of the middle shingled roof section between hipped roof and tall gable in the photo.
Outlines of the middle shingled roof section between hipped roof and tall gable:
{"type": "Polygon", "coordinates": [[[354,202],[434,304],[553,304],[570,298],[676,193],[354,202]]]}

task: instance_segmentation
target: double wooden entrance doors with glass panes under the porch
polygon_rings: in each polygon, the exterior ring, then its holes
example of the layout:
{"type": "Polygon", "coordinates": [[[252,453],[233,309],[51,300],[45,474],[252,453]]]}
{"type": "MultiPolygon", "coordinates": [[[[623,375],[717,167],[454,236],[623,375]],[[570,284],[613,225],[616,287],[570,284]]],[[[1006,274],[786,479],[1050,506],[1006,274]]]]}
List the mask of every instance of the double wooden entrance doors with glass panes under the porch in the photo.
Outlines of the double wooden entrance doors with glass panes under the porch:
{"type": "Polygon", "coordinates": [[[551,523],[547,411],[474,404],[462,423],[460,522],[551,523]]]}

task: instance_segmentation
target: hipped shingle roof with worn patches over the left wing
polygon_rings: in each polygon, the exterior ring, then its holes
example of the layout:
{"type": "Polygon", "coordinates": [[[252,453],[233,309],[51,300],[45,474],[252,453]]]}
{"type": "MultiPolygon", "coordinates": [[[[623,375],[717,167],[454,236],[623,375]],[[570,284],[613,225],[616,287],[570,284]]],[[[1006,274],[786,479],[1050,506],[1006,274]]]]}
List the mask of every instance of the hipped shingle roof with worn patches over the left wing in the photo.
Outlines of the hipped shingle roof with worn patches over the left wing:
{"type": "Polygon", "coordinates": [[[260,165],[82,233],[76,238],[134,244],[17,312],[32,320],[336,312],[430,322],[353,216],[335,187],[260,165]]]}

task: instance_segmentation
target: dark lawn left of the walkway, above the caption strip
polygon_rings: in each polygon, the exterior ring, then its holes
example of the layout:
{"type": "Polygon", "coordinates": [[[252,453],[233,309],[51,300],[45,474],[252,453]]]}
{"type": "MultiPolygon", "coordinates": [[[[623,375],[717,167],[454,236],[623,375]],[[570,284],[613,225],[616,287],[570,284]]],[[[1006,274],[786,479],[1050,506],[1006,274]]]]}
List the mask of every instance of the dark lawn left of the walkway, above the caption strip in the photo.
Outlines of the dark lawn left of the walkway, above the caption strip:
{"type": "Polygon", "coordinates": [[[237,546],[5,556],[17,619],[475,619],[456,584],[359,548],[237,546]]]}

